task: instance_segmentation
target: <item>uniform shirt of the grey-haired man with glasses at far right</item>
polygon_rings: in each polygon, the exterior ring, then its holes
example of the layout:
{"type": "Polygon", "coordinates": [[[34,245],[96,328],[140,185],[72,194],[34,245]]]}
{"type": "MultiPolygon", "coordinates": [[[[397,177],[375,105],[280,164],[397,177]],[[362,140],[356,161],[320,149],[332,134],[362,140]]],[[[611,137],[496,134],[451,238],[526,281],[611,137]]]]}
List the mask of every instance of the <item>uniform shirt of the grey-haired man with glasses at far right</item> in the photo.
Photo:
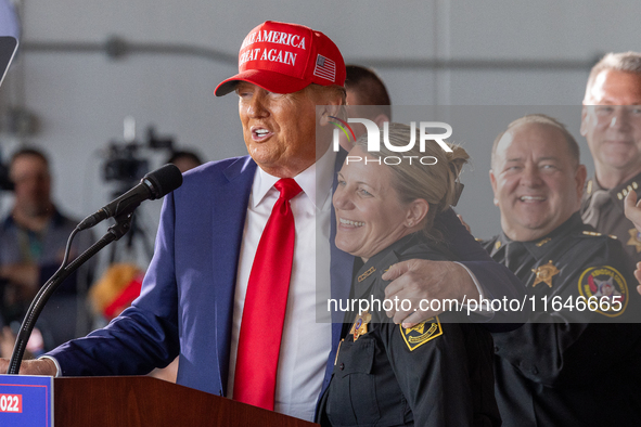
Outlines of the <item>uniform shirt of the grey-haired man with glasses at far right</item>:
{"type": "Polygon", "coordinates": [[[602,189],[595,178],[586,183],[581,200],[584,222],[598,232],[616,236],[634,262],[641,261],[641,233],[624,212],[624,199],[629,192],[641,197],[641,173],[623,184],[602,189]]]}

